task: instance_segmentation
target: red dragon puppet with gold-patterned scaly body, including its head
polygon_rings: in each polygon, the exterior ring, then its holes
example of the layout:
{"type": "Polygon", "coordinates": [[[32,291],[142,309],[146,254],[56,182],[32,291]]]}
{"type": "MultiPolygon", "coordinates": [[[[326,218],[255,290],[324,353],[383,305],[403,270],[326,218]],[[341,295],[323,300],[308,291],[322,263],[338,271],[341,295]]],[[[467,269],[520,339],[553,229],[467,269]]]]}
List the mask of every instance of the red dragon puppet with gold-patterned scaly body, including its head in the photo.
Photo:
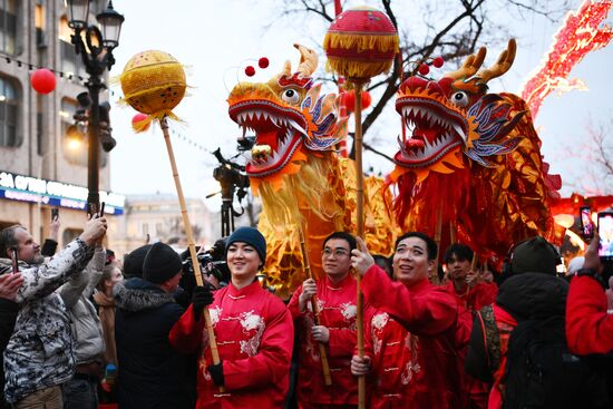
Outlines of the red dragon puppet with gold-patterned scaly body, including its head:
{"type": "Polygon", "coordinates": [[[401,84],[396,109],[410,135],[399,139],[388,183],[397,184],[403,230],[442,231],[444,243],[455,236],[484,259],[536,234],[556,241],[549,206],[561,179],[547,174],[528,107],[513,94],[488,94],[487,81],[510,68],[515,51],[510,40],[479,70],[481,48],[440,80],[401,84]]]}

